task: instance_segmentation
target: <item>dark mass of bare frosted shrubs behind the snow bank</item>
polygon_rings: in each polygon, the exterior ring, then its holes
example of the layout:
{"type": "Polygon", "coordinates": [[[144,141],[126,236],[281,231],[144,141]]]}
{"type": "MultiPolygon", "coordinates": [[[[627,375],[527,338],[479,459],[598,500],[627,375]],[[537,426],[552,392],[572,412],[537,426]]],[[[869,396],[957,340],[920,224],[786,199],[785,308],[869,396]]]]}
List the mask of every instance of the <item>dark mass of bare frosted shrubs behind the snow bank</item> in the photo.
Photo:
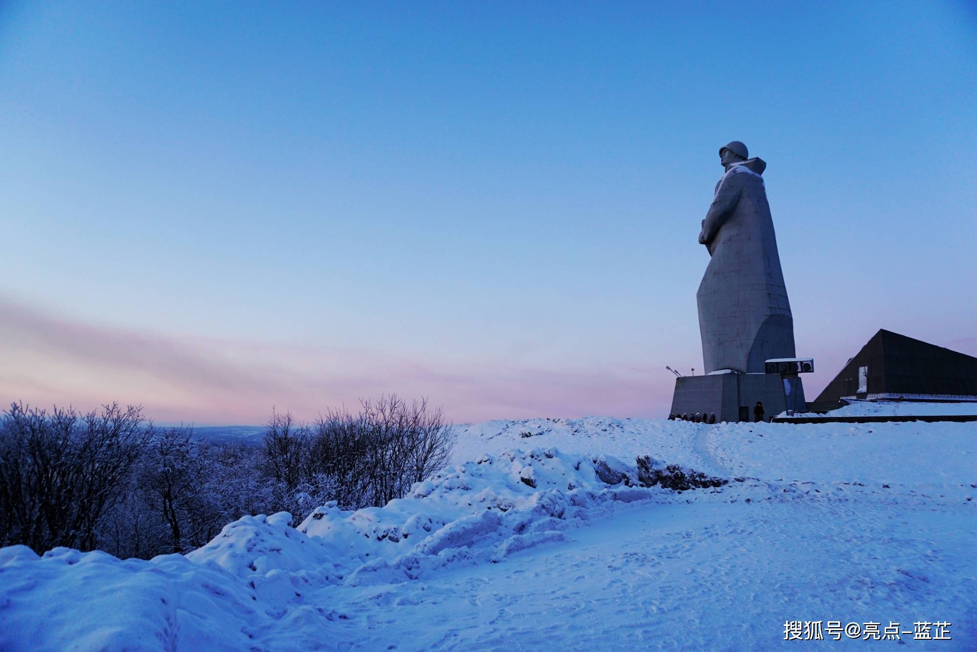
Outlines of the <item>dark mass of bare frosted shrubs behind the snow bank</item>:
{"type": "Polygon", "coordinates": [[[154,428],[139,407],[15,403],[0,418],[0,546],[187,552],[245,514],[383,506],[444,468],[453,443],[441,409],[395,394],[311,428],[273,409],[258,447],[154,428]]]}

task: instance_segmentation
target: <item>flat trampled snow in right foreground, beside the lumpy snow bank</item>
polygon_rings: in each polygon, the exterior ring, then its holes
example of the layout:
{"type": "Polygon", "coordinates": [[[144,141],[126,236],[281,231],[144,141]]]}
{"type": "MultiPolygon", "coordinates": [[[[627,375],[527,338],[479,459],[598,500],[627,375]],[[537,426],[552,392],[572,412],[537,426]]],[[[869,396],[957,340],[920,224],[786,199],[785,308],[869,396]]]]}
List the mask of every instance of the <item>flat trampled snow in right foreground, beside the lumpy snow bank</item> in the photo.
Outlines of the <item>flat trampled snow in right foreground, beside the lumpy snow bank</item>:
{"type": "Polygon", "coordinates": [[[746,650],[785,643],[786,620],[909,630],[946,620],[959,625],[940,649],[972,649],[972,524],[952,511],[856,510],[762,500],[624,509],[503,564],[347,594],[363,615],[341,646],[746,650]]]}

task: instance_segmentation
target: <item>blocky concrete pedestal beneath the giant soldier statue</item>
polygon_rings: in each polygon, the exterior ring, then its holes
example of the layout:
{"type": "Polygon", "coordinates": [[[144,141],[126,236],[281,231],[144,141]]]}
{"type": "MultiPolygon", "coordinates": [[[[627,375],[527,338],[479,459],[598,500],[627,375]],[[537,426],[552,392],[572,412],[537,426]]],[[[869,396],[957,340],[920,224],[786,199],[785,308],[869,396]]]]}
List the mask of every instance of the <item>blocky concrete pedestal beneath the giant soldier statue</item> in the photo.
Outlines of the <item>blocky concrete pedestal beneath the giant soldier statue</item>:
{"type": "Polygon", "coordinates": [[[716,422],[753,421],[753,406],[763,403],[764,420],[786,409],[803,411],[804,387],[797,376],[779,374],[717,374],[675,379],[671,414],[680,417],[697,412],[716,422]]]}

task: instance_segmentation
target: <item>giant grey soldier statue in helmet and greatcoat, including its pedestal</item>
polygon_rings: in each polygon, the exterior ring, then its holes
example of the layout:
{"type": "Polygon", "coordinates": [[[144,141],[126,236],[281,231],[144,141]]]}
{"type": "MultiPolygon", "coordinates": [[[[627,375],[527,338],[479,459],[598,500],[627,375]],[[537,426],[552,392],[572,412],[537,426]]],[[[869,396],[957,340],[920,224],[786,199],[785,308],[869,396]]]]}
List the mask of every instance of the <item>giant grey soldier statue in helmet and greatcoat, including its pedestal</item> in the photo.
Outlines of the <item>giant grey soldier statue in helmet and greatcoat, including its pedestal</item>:
{"type": "Polygon", "coordinates": [[[719,160],[726,172],[699,234],[711,257],[696,295],[705,375],[679,375],[672,416],[747,421],[758,401],[771,415],[790,414],[805,404],[796,371],[813,362],[789,361],[793,318],[763,185],[767,164],[739,141],[720,147],[719,160]]]}

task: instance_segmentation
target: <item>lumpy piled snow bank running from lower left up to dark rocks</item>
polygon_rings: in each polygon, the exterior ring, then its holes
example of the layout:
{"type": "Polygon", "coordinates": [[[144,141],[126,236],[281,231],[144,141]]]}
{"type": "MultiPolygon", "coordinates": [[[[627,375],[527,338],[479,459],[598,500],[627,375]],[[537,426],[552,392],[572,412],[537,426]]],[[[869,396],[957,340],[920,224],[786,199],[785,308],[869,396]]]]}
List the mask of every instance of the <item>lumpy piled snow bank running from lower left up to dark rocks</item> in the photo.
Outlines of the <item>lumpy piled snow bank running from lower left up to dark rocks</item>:
{"type": "Polygon", "coordinates": [[[245,516],[186,555],[0,549],[0,648],[248,649],[256,638],[297,635],[288,623],[348,620],[316,599],[323,588],[499,562],[563,540],[596,509],[664,493],[633,486],[636,472],[616,458],[508,450],[446,469],[383,508],[329,504],[298,528],[287,512],[245,516]],[[598,469],[613,469],[615,485],[598,469]],[[104,617],[93,622],[93,608],[104,617]]]}

